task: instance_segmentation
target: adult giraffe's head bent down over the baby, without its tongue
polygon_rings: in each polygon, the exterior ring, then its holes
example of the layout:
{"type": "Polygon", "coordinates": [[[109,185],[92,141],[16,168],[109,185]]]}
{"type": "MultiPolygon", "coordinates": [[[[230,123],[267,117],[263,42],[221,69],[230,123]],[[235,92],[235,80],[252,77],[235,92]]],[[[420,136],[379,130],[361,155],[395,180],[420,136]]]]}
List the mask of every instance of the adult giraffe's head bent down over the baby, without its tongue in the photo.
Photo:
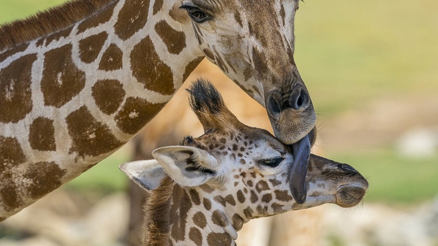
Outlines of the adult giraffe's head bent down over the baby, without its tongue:
{"type": "Polygon", "coordinates": [[[286,144],[315,126],[309,92],[297,70],[294,17],[299,0],[183,0],[205,56],[264,105],[286,144]]]}

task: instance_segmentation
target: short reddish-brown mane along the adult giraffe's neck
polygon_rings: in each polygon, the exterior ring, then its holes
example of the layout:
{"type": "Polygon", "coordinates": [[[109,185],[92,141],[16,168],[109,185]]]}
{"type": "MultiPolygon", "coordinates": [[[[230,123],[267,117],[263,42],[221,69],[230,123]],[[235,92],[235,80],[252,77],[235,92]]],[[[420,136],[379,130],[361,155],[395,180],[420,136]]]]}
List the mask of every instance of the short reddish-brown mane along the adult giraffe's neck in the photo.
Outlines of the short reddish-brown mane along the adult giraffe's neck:
{"type": "Polygon", "coordinates": [[[88,18],[116,0],[72,0],[0,26],[0,51],[55,33],[88,18]]]}

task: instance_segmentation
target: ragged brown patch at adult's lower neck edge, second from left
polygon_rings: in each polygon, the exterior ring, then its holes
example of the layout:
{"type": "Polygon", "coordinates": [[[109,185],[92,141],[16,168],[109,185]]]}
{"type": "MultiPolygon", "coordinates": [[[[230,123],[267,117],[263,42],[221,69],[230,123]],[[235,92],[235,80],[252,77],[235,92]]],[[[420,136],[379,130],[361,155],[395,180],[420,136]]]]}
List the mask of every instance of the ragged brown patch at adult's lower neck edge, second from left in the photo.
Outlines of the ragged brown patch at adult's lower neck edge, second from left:
{"type": "Polygon", "coordinates": [[[55,162],[32,163],[26,170],[24,178],[31,179],[33,182],[28,188],[29,196],[37,199],[46,195],[61,186],[61,178],[67,170],[60,169],[55,162]]]}

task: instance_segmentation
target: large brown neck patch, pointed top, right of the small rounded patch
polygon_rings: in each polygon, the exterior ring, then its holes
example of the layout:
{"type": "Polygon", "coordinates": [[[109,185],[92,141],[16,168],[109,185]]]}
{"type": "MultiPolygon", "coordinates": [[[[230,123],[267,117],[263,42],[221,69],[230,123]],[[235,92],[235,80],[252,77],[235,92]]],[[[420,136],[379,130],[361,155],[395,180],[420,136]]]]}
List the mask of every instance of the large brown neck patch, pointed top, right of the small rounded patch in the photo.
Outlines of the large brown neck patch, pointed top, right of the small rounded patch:
{"type": "Polygon", "coordinates": [[[160,60],[149,36],[134,47],[130,58],[134,77],[144,84],[146,89],[164,95],[172,95],[175,92],[172,70],[160,60]]]}

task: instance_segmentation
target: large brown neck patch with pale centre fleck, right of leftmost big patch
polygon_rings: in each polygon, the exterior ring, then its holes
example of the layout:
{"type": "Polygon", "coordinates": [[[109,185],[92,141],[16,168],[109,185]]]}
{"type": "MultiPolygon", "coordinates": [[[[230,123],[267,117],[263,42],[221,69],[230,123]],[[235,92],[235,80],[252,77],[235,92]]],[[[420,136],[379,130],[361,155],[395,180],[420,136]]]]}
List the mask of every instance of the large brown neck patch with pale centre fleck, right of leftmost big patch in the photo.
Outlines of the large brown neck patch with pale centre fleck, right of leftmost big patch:
{"type": "Polygon", "coordinates": [[[47,106],[65,105],[85,86],[85,72],[74,65],[71,44],[45,53],[44,68],[41,91],[47,106]]]}

